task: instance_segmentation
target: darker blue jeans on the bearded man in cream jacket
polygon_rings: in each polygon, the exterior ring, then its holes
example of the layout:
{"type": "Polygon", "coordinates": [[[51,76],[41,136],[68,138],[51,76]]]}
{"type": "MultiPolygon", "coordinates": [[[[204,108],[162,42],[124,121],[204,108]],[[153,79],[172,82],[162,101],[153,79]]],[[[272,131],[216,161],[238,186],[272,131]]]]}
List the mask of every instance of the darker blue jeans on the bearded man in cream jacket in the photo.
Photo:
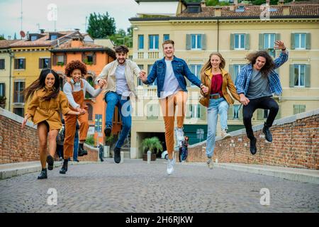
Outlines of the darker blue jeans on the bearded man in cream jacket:
{"type": "Polygon", "coordinates": [[[130,127],[132,126],[132,114],[131,114],[131,105],[130,99],[123,97],[121,94],[117,94],[116,92],[108,92],[106,93],[104,100],[106,101],[106,127],[112,128],[113,125],[113,114],[114,109],[118,106],[118,111],[120,112],[122,119],[122,131],[118,138],[118,142],[116,143],[116,148],[121,148],[123,146],[124,140],[128,137],[128,133],[130,133],[130,127]]]}

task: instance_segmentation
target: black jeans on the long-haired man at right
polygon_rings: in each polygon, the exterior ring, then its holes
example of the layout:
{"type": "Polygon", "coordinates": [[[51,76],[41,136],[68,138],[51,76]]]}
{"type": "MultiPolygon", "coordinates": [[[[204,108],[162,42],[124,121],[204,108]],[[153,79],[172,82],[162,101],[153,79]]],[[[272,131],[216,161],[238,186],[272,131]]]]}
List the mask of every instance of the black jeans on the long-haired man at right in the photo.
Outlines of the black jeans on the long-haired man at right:
{"type": "Polygon", "coordinates": [[[278,114],[279,106],[271,97],[262,97],[250,99],[249,104],[243,107],[242,116],[244,118],[247,137],[250,138],[250,140],[254,139],[254,132],[252,131],[252,114],[254,114],[256,109],[269,109],[269,115],[265,126],[272,127],[274,118],[276,118],[276,115],[278,114]]]}

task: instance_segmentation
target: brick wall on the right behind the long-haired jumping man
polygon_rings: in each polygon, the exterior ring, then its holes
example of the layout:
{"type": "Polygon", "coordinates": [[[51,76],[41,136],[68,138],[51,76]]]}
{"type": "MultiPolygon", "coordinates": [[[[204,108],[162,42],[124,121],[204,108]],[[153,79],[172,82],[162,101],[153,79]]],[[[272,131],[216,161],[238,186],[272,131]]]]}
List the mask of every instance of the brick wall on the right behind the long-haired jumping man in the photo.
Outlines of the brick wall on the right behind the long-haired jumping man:
{"type": "MultiPolygon", "coordinates": [[[[250,140],[242,129],[230,133],[233,137],[227,140],[216,137],[213,160],[319,170],[319,109],[276,120],[272,143],[265,142],[262,127],[253,127],[255,155],[250,154],[250,140]]],[[[206,141],[189,147],[188,162],[206,160],[206,141]]]]}

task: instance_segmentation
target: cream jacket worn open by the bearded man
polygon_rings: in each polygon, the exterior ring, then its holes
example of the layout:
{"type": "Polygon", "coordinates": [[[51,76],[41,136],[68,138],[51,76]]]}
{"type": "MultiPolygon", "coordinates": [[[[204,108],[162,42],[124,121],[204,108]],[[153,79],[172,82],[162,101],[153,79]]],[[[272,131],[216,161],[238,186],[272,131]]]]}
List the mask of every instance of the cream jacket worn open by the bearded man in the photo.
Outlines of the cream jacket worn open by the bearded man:
{"type": "MultiPolygon", "coordinates": [[[[102,72],[99,74],[99,77],[96,77],[95,83],[99,83],[99,79],[106,79],[106,86],[103,87],[103,93],[106,92],[116,92],[116,68],[118,67],[118,61],[114,60],[111,63],[108,63],[103,67],[102,72]]],[[[135,62],[131,60],[125,60],[125,78],[128,83],[128,88],[130,92],[136,96],[136,87],[134,83],[134,75],[138,77],[140,74],[140,68],[136,65],[135,62]]]]}

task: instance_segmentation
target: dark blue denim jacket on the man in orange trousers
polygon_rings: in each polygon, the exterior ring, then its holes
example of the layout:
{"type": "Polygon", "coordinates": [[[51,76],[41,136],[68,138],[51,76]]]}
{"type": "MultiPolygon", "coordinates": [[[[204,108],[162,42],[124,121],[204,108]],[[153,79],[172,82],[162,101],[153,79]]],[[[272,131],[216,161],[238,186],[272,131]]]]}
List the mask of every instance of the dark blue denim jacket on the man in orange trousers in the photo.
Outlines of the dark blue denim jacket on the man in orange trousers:
{"type": "MultiPolygon", "coordinates": [[[[172,60],[172,67],[175,77],[179,82],[179,86],[184,92],[187,92],[185,77],[187,77],[187,79],[189,79],[189,81],[195,84],[197,87],[201,87],[201,81],[191,72],[191,70],[189,70],[189,67],[184,60],[174,56],[172,60]]],[[[162,89],[164,86],[165,74],[166,63],[165,58],[162,58],[154,63],[150,74],[147,76],[147,81],[144,82],[144,84],[152,84],[156,79],[158,97],[160,97],[161,92],[163,92],[162,89]]]]}

